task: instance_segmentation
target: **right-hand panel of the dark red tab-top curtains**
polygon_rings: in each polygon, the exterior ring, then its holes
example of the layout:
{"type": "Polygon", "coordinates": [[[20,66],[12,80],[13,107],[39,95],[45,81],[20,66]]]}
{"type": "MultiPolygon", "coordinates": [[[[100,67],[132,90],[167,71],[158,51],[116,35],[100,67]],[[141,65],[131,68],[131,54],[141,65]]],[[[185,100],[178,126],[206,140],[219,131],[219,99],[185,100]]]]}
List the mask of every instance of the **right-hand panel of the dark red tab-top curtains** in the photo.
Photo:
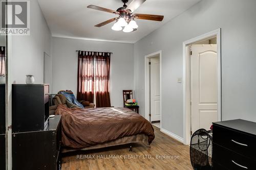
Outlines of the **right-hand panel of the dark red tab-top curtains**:
{"type": "Polygon", "coordinates": [[[111,107],[110,56],[111,53],[96,53],[95,55],[96,107],[111,107]]]}

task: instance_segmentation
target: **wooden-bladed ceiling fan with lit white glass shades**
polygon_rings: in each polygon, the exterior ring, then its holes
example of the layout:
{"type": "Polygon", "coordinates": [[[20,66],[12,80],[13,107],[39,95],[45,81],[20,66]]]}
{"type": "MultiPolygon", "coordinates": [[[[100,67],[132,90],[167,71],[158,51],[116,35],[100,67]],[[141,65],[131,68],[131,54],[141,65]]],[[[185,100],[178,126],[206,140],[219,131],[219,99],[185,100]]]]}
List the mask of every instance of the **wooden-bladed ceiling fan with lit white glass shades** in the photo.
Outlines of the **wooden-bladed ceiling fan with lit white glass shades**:
{"type": "Polygon", "coordinates": [[[107,9],[107,8],[98,7],[95,5],[89,5],[87,8],[119,15],[118,17],[111,18],[109,20],[101,22],[98,25],[96,25],[95,27],[102,27],[102,26],[107,25],[108,23],[116,21],[116,23],[112,27],[112,30],[114,30],[114,31],[123,30],[123,32],[129,33],[129,32],[136,31],[138,28],[135,18],[136,19],[154,20],[154,21],[162,21],[163,20],[163,17],[164,17],[163,15],[134,14],[133,13],[146,0],[133,0],[128,6],[126,5],[126,3],[129,0],[121,0],[121,1],[123,2],[123,6],[118,8],[116,11],[107,9]]]}

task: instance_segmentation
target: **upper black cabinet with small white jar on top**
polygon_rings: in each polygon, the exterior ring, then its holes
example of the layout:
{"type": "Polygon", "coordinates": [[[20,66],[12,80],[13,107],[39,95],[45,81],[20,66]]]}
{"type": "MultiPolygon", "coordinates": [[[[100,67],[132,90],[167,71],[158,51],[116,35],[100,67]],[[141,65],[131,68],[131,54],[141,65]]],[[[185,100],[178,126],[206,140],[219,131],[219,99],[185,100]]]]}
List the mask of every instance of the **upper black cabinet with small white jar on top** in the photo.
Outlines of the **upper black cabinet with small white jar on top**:
{"type": "Polygon", "coordinates": [[[44,130],[49,118],[49,85],[12,85],[12,132],[44,130]]]}

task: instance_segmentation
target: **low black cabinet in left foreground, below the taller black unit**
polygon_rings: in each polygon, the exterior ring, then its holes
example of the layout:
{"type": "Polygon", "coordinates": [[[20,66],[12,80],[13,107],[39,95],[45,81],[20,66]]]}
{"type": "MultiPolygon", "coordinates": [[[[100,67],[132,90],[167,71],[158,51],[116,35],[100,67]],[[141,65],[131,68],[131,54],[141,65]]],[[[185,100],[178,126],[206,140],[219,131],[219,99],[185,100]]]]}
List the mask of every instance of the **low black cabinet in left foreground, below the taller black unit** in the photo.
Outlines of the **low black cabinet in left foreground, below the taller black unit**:
{"type": "Polygon", "coordinates": [[[13,133],[13,169],[60,169],[61,116],[49,119],[42,131],[13,133]]]}

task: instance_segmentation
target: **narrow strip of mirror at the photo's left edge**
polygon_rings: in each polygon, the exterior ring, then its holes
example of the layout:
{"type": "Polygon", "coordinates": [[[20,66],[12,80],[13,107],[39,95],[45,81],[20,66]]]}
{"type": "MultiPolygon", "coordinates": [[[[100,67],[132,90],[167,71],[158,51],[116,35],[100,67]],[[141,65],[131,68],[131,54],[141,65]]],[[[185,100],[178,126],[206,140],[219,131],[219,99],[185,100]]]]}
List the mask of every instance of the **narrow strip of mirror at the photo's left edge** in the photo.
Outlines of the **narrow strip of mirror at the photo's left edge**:
{"type": "Polygon", "coordinates": [[[0,169],[6,168],[6,37],[0,33],[0,169]]]}

